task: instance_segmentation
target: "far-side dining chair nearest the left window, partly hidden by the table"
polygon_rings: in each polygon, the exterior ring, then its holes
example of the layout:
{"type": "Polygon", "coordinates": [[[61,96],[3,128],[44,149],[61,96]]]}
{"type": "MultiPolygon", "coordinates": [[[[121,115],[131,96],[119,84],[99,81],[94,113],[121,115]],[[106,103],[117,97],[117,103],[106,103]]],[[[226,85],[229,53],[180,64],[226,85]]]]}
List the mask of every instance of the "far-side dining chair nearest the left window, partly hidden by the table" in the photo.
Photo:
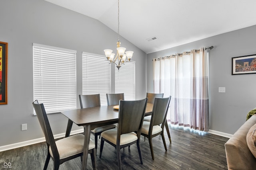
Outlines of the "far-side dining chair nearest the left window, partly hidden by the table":
{"type": "MultiPolygon", "coordinates": [[[[79,101],[81,109],[89,107],[98,107],[100,106],[100,94],[79,95],[79,101]]],[[[98,148],[98,136],[100,138],[100,134],[103,131],[113,128],[116,128],[116,125],[112,124],[102,127],[96,127],[95,129],[91,130],[91,133],[94,135],[96,154],[98,148]]]]}

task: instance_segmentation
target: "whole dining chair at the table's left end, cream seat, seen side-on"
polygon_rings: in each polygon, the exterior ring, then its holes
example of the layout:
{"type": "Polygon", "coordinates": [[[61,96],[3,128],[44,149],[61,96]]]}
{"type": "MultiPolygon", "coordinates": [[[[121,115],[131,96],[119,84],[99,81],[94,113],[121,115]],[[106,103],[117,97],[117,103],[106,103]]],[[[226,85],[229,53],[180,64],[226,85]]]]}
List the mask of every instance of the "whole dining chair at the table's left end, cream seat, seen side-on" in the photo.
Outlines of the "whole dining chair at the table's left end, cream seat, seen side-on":
{"type": "MultiPolygon", "coordinates": [[[[41,128],[44,133],[44,137],[46,139],[47,144],[47,157],[44,164],[44,170],[47,169],[50,158],[52,158],[54,162],[54,170],[58,170],[60,164],[66,162],[68,160],[77,158],[83,155],[84,150],[84,135],[77,134],[72,135],[70,137],[66,137],[60,139],[58,141],[54,140],[52,129],[50,127],[50,123],[48,121],[48,117],[46,115],[46,111],[44,109],[44,104],[38,104],[38,101],[35,100],[33,103],[34,109],[36,111],[36,115],[38,121],[41,125],[41,128]]],[[[89,153],[92,159],[92,167],[96,169],[96,152],[95,145],[92,141],[89,144],[89,153]]]]}

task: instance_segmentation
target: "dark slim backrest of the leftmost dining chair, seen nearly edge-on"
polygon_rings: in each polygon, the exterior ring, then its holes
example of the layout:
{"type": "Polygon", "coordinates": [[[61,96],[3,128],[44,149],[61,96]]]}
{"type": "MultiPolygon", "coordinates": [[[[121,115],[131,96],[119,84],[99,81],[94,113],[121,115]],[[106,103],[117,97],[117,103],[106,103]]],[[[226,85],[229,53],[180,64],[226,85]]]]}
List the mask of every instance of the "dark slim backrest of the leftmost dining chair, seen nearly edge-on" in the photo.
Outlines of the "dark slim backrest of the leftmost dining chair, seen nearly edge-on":
{"type": "Polygon", "coordinates": [[[44,109],[44,104],[38,104],[37,100],[35,100],[32,104],[36,111],[36,116],[38,118],[38,121],[41,125],[43,132],[44,132],[44,137],[46,139],[46,143],[47,143],[48,147],[51,146],[52,154],[53,154],[54,158],[59,159],[60,155],[58,153],[56,143],[54,141],[52,129],[50,127],[50,123],[49,123],[48,117],[46,115],[46,111],[44,109]]]}

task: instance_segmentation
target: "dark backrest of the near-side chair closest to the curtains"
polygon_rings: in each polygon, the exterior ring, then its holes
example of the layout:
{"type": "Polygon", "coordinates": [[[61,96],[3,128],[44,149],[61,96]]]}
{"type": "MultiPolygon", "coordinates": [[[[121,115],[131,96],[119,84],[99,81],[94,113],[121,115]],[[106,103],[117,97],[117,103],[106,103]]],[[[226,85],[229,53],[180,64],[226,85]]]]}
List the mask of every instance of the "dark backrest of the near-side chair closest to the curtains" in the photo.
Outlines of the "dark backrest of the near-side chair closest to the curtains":
{"type": "Polygon", "coordinates": [[[154,125],[160,125],[161,123],[162,123],[162,128],[164,127],[170,100],[171,100],[171,96],[169,96],[168,98],[155,98],[153,109],[152,109],[150,127],[154,125]]]}

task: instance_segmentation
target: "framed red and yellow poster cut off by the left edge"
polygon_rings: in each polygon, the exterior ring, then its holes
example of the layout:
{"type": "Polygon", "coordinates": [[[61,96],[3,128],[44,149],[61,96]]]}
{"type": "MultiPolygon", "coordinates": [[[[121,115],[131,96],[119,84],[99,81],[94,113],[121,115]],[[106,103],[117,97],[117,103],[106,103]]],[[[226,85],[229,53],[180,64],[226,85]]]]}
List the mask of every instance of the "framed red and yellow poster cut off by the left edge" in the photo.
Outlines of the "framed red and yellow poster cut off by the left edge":
{"type": "Polygon", "coordinates": [[[8,43],[0,42],[0,104],[7,104],[8,43]]]}

